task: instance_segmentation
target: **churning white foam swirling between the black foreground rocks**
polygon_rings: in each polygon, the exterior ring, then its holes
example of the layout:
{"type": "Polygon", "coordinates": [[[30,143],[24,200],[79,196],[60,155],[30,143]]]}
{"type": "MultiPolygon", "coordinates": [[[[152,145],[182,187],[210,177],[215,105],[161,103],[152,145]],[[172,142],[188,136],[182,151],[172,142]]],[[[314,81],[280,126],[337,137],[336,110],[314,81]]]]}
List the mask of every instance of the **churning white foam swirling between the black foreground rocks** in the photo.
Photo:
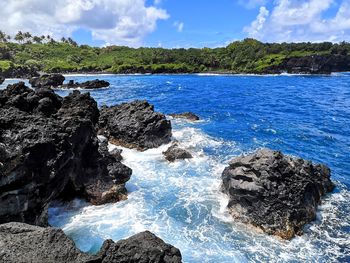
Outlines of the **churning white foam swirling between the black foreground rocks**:
{"type": "Polygon", "coordinates": [[[281,241],[258,233],[232,219],[228,197],[220,192],[228,159],[216,155],[227,144],[237,146],[183,125],[174,122],[173,137],[193,159],[166,161],[162,152],[171,144],[144,152],[122,148],[123,163],[133,169],[128,200],[56,206],[50,209],[50,223],[62,227],[84,251],[97,251],[107,238],[150,230],[178,247],[184,262],[331,262],[350,254],[350,233],[344,231],[350,228],[350,193],[344,187],[327,196],[318,221],[302,237],[281,241]]]}

